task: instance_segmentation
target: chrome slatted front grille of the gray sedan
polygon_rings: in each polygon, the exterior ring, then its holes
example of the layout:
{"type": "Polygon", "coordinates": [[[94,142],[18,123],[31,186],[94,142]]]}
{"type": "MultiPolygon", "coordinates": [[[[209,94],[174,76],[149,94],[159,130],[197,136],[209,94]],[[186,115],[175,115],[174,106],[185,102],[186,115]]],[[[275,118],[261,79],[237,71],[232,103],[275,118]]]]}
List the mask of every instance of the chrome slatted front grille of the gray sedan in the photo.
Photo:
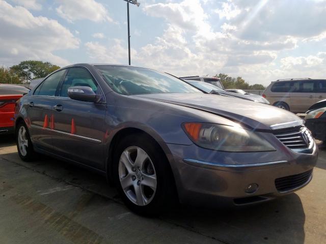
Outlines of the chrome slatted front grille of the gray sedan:
{"type": "Polygon", "coordinates": [[[310,149],[313,145],[313,138],[305,126],[280,133],[274,133],[274,135],[285,146],[292,150],[310,149]]]}

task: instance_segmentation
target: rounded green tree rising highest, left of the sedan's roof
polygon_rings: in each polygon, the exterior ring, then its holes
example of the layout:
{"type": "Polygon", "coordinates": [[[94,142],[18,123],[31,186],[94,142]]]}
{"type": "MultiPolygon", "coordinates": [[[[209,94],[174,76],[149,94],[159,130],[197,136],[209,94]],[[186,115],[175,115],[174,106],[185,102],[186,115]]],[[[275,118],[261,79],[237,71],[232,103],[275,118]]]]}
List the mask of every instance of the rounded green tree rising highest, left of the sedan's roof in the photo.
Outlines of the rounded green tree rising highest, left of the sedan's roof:
{"type": "Polygon", "coordinates": [[[12,73],[28,82],[35,78],[43,78],[57,69],[60,69],[57,65],[37,60],[26,60],[10,67],[12,73]]]}

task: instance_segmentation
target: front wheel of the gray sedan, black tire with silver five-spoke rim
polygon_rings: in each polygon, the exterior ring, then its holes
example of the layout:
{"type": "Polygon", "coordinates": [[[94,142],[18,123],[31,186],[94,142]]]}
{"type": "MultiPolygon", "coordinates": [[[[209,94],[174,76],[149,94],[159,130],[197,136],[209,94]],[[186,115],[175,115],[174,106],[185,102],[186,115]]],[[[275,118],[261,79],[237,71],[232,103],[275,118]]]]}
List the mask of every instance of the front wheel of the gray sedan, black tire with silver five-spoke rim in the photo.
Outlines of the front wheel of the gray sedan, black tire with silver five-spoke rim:
{"type": "Polygon", "coordinates": [[[174,203],[174,178],[169,162],[149,136],[133,134],[122,138],[113,166],[115,185],[132,211],[153,216],[174,203]]]}

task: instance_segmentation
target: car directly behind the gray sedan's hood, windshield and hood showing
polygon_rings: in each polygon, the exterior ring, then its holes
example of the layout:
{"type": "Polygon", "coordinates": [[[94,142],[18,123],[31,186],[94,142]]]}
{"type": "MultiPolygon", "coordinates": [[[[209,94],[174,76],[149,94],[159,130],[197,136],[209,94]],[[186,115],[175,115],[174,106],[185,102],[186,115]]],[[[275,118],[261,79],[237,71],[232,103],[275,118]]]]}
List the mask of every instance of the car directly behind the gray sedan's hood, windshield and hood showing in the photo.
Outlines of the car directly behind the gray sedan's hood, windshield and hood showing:
{"type": "Polygon", "coordinates": [[[215,95],[223,95],[223,96],[227,96],[227,97],[234,97],[234,98],[249,100],[249,101],[253,101],[253,102],[269,104],[268,101],[265,100],[265,99],[259,99],[259,98],[255,99],[255,98],[250,98],[248,96],[243,96],[241,94],[230,93],[230,92],[227,92],[226,90],[224,90],[224,89],[222,89],[222,88],[220,88],[218,86],[215,86],[215,85],[212,85],[212,84],[209,84],[209,83],[206,83],[206,82],[196,81],[196,80],[185,80],[185,82],[187,82],[188,84],[191,84],[192,86],[200,89],[203,93],[215,94],[215,95]]]}

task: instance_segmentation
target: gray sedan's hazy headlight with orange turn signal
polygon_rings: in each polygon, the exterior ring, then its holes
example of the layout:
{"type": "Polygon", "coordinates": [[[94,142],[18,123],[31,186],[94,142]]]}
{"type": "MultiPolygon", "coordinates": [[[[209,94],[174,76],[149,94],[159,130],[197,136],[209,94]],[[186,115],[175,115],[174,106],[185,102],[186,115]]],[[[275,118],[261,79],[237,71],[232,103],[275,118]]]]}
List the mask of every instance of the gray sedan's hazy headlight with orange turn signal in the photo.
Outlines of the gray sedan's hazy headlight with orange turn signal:
{"type": "Polygon", "coordinates": [[[183,123],[183,130],[198,146],[218,151],[274,151],[257,133],[241,127],[209,123],[183,123]]]}

